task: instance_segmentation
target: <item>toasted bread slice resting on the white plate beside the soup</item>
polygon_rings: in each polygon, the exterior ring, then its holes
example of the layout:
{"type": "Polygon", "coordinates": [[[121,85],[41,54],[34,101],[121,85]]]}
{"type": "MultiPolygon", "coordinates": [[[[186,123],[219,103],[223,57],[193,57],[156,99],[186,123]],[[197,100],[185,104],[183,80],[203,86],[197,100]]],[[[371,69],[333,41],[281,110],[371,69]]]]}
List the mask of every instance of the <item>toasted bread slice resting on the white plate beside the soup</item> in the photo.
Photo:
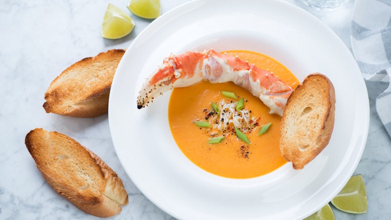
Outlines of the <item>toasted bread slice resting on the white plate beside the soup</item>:
{"type": "Polygon", "coordinates": [[[320,73],[308,75],[289,96],[281,118],[281,155],[294,169],[302,169],[327,146],[334,115],[333,84],[320,73]]]}

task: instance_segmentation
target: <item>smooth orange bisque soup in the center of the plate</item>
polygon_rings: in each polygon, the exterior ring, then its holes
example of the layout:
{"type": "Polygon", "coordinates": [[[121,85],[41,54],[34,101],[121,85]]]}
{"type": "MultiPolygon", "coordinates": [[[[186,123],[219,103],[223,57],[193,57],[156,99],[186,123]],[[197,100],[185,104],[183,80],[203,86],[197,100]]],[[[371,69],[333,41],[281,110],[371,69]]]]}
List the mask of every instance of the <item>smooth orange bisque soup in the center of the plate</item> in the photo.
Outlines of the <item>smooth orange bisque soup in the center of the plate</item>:
{"type": "MultiPolygon", "coordinates": [[[[261,69],[269,69],[275,76],[295,88],[299,81],[281,63],[266,55],[252,51],[227,51],[261,69]]],[[[218,176],[245,179],[270,173],[286,163],[279,149],[281,117],[269,114],[269,108],[246,89],[233,82],[215,83],[203,81],[189,87],[172,89],[168,105],[168,121],[172,136],[182,153],[195,165],[218,176]],[[221,91],[234,92],[237,100],[225,97],[221,91]],[[246,133],[250,144],[232,132],[219,133],[213,128],[201,128],[193,121],[206,121],[206,113],[212,111],[211,102],[238,101],[244,98],[244,109],[250,118],[257,117],[253,128],[246,133]],[[263,125],[272,123],[266,133],[258,136],[263,125]],[[213,135],[225,135],[218,144],[209,144],[213,135]]]]}

